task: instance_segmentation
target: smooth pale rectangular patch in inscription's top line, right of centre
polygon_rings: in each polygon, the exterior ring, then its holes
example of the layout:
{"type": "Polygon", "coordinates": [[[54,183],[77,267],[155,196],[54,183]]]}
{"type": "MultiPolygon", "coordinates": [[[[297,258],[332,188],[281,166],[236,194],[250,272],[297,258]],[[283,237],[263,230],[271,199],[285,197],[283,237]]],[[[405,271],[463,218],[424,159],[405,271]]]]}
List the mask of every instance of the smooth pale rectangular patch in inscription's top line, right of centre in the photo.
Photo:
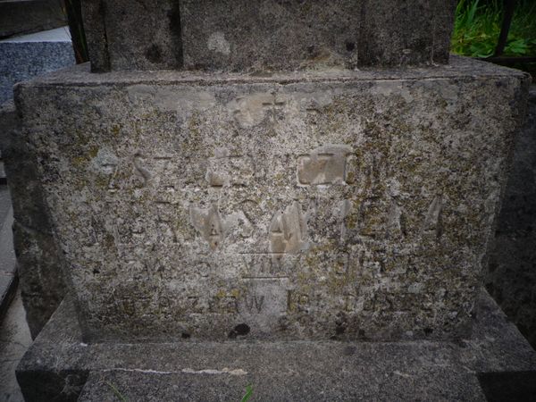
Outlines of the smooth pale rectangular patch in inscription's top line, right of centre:
{"type": "Polygon", "coordinates": [[[346,180],[348,146],[326,146],[297,159],[297,181],[303,186],[343,183],[346,180]]]}

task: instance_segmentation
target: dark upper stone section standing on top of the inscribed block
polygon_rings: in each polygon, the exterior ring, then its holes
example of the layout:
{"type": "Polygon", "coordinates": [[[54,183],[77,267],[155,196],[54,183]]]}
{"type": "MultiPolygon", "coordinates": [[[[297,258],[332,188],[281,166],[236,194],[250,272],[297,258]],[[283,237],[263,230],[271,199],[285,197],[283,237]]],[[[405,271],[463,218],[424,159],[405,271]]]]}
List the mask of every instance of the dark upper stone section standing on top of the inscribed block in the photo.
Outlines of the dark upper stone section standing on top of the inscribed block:
{"type": "Polygon", "coordinates": [[[448,62],[455,0],[90,0],[94,71],[448,62]],[[150,11],[150,13],[149,13],[150,11]],[[184,54],[184,59],[183,59],[184,54]]]}

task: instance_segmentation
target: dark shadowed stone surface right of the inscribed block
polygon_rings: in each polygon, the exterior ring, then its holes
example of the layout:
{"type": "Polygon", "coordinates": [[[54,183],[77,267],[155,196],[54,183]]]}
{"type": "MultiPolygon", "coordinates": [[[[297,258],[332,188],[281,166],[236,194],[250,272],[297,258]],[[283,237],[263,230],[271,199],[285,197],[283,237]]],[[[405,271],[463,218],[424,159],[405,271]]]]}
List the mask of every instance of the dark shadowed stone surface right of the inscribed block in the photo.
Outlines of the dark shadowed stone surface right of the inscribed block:
{"type": "Polygon", "coordinates": [[[528,120],[515,144],[514,163],[490,247],[486,287],[536,347],[536,88],[528,120]]]}

